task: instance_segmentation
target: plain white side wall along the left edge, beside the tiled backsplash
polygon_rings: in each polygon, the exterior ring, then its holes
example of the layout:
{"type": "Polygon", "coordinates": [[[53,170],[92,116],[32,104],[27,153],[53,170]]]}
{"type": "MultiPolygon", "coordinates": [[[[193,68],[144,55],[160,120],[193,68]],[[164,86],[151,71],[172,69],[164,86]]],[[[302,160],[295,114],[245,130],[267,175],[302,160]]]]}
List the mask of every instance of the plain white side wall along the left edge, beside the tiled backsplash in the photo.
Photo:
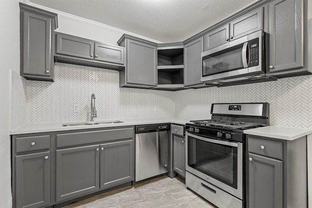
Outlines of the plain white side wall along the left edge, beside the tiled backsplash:
{"type": "Polygon", "coordinates": [[[20,73],[19,0],[0,0],[0,28],[0,208],[10,208],[10,69],[20,73]]]}

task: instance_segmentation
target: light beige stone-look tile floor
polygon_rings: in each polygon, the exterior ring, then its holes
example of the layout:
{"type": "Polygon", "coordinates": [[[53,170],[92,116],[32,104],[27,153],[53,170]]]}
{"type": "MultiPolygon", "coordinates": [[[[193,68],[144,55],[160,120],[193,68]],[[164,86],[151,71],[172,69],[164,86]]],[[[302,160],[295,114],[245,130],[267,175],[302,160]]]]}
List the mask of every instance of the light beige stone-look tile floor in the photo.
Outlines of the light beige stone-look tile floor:
{"type": "Polygon", "coordinates": [[[161,176],[103,193],[63,208],[215,208],[180,178],[161,176]]]}

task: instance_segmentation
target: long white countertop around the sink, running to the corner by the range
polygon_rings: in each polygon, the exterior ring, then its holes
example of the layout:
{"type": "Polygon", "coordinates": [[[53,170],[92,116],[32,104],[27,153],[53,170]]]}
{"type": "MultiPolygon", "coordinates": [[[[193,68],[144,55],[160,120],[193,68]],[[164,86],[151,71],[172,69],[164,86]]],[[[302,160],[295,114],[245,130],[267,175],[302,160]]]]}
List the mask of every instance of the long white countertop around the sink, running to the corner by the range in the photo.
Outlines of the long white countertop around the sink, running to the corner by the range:
{"type": "MultiPolygon", "coordinates": [[[[123,123],[109,123],[109,124],[96,124],[96,125],[78,125],[78,126],[62,126],[63,123],[72,123],[76,121],[64,121],[64,122],[52,122],[52,123],[30,123],[25,124],[17,129],[10,131],[11,135],[23,134],[23,133],[39,133],[39,132],[59,132],[68,130],[79,129],[96,129],[105,127],[122,127],[122,126],[134,126],[145,124],[160,124],[160,123],[175,123],[185,125],[189,122],[190,118],[137,118],[137,119],[116,119],[123,121],[123,123]]],[[[96,120],[99,121],[99,120],[96,120]]],[[[105,120],[100,120],[105,121],[105,120]]]]}

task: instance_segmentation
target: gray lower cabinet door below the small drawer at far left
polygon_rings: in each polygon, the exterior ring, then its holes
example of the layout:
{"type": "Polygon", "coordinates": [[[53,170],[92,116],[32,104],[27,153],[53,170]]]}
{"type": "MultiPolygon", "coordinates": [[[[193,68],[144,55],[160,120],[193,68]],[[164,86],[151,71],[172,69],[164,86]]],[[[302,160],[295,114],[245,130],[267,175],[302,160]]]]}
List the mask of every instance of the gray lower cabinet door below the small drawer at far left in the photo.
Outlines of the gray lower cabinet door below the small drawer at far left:
{"type": "Polygon", "coordinates": [[[15,156],[16,207],[50,204],[50,152],[15,156]]]}

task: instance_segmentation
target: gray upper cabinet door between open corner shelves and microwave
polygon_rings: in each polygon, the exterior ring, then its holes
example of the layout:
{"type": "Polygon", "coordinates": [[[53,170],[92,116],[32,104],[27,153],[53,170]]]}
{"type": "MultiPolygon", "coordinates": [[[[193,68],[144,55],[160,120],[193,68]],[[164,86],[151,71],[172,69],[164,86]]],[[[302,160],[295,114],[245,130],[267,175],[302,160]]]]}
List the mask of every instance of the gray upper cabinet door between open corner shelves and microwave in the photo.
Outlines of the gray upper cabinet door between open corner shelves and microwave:
{"type": "Polygon", "coordinates": [[[201,81],[203,37],[184,46],[184,87],[204,85],[201,81]]]}

